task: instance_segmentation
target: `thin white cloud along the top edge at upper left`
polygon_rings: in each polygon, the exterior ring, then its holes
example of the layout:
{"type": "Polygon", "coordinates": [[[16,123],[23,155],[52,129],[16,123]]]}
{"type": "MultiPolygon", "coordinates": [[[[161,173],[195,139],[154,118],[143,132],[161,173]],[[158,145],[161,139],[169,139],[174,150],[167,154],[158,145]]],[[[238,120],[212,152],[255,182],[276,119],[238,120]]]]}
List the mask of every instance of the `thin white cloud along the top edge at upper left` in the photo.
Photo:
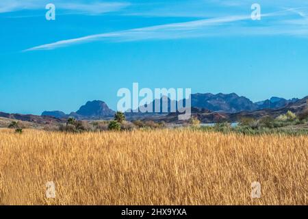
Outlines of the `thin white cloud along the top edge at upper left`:
{"type": "MultiPolygon", "coordinates": [[[[0,13],[17,12],[21,10],[44,10],[47,0],[1,0],[0,13]]],[[[65,10],[74,13],[103,14],[122,10],[130,5],[129,2],[116,1],[66,1],[55,0],[57,10],[65,10]]]]}

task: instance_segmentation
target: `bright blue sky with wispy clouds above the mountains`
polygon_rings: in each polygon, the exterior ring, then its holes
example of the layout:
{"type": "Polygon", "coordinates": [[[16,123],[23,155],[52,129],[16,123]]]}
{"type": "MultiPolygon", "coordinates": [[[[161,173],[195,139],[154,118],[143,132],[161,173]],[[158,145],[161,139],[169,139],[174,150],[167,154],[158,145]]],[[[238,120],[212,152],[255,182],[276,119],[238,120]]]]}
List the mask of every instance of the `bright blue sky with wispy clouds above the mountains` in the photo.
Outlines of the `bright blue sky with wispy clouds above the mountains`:
{"type": "Polygon", "coordinates": [[[116,92],[133,82],[302,98],[308,1],[1,0],[0,81],[0,112],[23,114],[70,113],[94,99],[116,110],[116,92]]]}

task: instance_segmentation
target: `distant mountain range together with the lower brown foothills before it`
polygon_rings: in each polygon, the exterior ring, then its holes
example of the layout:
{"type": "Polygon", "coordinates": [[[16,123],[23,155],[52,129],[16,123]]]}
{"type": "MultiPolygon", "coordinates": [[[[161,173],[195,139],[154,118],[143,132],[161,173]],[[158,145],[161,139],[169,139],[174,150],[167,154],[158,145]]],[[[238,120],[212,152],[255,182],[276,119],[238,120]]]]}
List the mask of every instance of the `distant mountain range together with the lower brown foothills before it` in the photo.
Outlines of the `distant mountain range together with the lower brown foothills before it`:
{"type": "MultiPolygon", "coordinates": [[[[192,94],[192,116],[196,116],[202,123],[216,123],[220,121],[236,122],[243,117],[261,118],[264,116],[277,117],[288,110],[300,113],[308,109],[308,96],[303,99],[286,100],[272,97],[265,101],[253,103],[244,96],[237,94],[192,94]]],[[[170,99],[157,99],[161,107],[155,113],[126,112],[127,120],[153,120],[166,123],[185,123],[178,120],[179,112],[171,112],[170,104],[177,105],[170,99]],[[162,103],[168,102],[166,112],[162,112],[162,103]]],[[[185,102],[185,100],[184,100],[185,102]]],[[[146,107],[146,105],[144,106],[146,107]]],[[[141,107],[140,107],[141,108],[141,107]]],[[[140,109],[139,109],[140,110],[140,109]]],[[[153,111],[155,107],[153,105],[153,111]]],[[[38,124],[65,123],[68,117],[78,120],[110,120],[114,117],[114,110],[103,101],[88,101],[76,112],[64,114],[61,111],[46,111],[41,116],[8,114],[0,112],[0,117],[29,121],[38,124]]]]}

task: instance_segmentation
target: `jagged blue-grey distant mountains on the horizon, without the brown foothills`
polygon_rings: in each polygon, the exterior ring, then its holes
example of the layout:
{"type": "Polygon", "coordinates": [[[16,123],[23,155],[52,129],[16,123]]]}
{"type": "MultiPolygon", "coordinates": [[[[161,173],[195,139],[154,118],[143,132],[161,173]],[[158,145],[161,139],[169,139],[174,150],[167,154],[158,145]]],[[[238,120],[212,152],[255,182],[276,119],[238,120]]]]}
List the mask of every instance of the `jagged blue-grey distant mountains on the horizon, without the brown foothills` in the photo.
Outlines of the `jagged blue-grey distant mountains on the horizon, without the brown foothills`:
{"type": "MultiPolygon", "coordinates": [[[[272,97],[265,101],[259,101],[253,103],[250,99],[244,96],[238,96],[238,94],[192,94],[191,103],[194,110],[200,109],[207,110],[209,112],[216,112],[222,114],[236,114],[239,112],[254,112],[257,110],[273,110],[281,107],[286,107],[290,103],[296,103],[299,99],[283,99],[279,97],[272,97]]],[[[159,111],[156,113],[130,113],[127,112],[126,116],[128,118],[139,118],[144,116],[153,116],[155,114],[168,114],[171,113],[170,105],[175,104],[177,106],[177,101],[172,101],[170,99],[157,99],[155,101],[160,101],[159,111]],[[163,111],[162,105],[168,103],[168,108],[163,111]]],[[[155,104],[152,102],[153,112],[155,112],[155,104]]],[[[185,102],[185,101],[184,101],[185,102]]],[[[147,107],[146,105],[143,107],[147,107]]],[[[141,107],[140,107],[141,108],[141,107]]],[[[177,108],[176,108],[177,110],[177,108]]],[[[74,117],[79,120],[99,120],[99,119],[108,119],[114,116],[114,110],[111,110],[110,107],[103,101],[88,101],[86,105],[80,107],[77,112],[72,112],[70,114],[64,114],[61,111],[45,111],[42,113],[42,116],[52,116],[55,118],[68,118],[74,117]]]]}

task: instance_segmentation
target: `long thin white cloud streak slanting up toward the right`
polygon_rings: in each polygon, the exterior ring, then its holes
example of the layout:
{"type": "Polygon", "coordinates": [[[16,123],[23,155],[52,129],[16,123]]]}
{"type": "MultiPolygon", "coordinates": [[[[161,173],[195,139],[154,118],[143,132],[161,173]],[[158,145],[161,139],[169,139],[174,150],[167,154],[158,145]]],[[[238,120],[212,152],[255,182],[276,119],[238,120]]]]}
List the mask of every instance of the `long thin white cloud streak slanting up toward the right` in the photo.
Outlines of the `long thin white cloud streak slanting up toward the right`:
{"type": "MultiPolygon", "coordinates": [[[[298,27],[298,25],[285,26],[283,19],[277,22],[272,17],[287,16],[294,13],[292,10],[282,10],[262,15],[263,25],[251,25],[251,15],[224,16],[218,18],[200,19],[182,23],[169,23],[165,25],[153,25],[115,31],[111,33],[94,34],[81,38],[60,40],[49,44],[42,44],[36,47],[25,49],[24,51],[50,50],[58,47],[68,47],[73,44],[92,42],[98,40],[114,40],[116,42],[136,41],[136,40],[162,40],[177,38],[198,38],[210,36],[248,36],[248,35],[292,35],[305,36],[308,34],[308,27],[298,27]],[[268,21],[264,21],[269,19],[268,21]]],[[[255,21],[257,22],[257,21],[255,21]]]]}

